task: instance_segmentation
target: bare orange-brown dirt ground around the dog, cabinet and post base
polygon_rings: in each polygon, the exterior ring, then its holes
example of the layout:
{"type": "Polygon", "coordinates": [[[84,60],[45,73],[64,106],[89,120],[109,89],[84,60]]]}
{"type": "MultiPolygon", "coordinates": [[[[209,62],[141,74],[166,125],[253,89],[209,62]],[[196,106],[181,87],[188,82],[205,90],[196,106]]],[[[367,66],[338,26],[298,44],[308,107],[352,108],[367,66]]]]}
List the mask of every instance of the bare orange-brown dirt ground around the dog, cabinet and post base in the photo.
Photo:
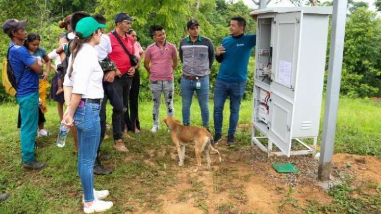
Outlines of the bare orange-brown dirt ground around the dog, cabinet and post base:
{"type": "MultiPolygon", "coordinates": [[[[218,146],[223,162],[211,154],[212,169],[206,170],[202,156],[201,171],[196,166],[193,147],[187,147],[185,165],[177,166],[175,151],[170,167],[177,171],[170,189],[158,196],[163,213],[287,213],[302,210],[311,201],[329,204],[332,197],[316,185],[318,160],[311,155],[270,157],[256,147],[230,150],[218,146]],[[299,173],[280,174],[272,163],[292,163],[299,173]]],[[[156,152],[149,151],[153,157],[156,152]]],[[[160,152],[159,152],[160,153],[160,152]]],[[[154,163],[149,163],[149,165],[154,163]]],[[[332,174],[348,172],[357,179],[378,183],[381,180],[381,159],[338,153],[333,158],[332,174]],[[347,167],[349,163],[350,167],[347,167]]],[[[143,210],[138,210],[138,212],[143,210]]],[[[147,210],[144,210],[146,212],[147,210]]],[[[157,210],[156,210],[157,211],[157,210]]],[[[148,213],[155,213],[149,211],[148,213]]]]}

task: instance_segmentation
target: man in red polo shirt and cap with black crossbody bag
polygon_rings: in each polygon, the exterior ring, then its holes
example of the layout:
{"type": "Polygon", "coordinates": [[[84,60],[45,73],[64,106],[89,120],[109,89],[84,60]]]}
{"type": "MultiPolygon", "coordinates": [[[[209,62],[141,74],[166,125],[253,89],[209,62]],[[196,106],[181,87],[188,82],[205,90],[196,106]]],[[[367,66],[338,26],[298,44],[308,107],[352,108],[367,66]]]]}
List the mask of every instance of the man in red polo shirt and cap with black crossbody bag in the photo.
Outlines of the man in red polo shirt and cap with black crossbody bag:
{"type": "MultiPolygon", "coordinates": [[[[118,93],[118,96],[122,99],[124,107],[127,105],[129,100],[130,88],[132,84],[132,77],[135,73],[135,67],[131,66],[130,55],[134,55],[134,39],[128,34],[131,29],[131,22],[135,18],[130,17],[126,13],[118,13],[115,18],[115,31],[109,33],[112,51],[109,53],[109,58],[116,65],[114,88],[118,93]]],[[[107,98],[104,98],[107,99],[107,98]]],[[[105,102],[104,102],[105,103],[105,102]]],[[[106,104],[106,103],[105,103],[106,104]]],[[[102,117],[106,118],[106,112],[100,113],[101,120],[102,117]]],[[[105,120],[106,121],[106,120],[105,120]]],[[[101,124],[106,125],[106,124],[101,124]]],[[[113,112],[112,115],[112,125],[113,125],[113,138],[114,138],[114,148],[118,151],[128,152],[129,150],[125,147],[122,140],[123,132],[122,127],[125,126],[123,115],[113,112]]],[[[104,133],[101,138],[104,137],[104,133]]]]}

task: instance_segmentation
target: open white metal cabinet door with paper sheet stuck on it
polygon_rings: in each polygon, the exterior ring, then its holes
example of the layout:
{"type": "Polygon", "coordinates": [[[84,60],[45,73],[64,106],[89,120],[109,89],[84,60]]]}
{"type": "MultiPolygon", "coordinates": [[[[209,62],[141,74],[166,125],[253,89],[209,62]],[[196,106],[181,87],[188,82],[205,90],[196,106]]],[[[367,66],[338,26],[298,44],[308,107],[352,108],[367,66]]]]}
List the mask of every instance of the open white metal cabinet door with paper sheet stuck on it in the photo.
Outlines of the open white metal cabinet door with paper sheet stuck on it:
{"type": "Polygon", "coordinates": [[[302,12],[276,14],[271,74],[271,127],[268,138],[287,156],[291,153],[295,83],[302,12]]]}

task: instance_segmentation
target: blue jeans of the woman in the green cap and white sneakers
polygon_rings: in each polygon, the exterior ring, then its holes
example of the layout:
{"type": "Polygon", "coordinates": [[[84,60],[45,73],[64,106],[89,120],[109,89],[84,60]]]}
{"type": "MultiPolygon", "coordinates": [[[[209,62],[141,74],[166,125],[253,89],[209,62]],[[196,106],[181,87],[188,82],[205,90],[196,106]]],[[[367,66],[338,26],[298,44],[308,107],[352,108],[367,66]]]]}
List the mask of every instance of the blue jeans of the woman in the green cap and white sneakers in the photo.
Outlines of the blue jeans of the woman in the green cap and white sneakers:
{"type": "Polygon", "coordinates": [[[74,123],[78,130],[78,174],[85,202],[94,200],[94,162],[100,139],[100,104],[85,102],[78,106],[74,123]]]}

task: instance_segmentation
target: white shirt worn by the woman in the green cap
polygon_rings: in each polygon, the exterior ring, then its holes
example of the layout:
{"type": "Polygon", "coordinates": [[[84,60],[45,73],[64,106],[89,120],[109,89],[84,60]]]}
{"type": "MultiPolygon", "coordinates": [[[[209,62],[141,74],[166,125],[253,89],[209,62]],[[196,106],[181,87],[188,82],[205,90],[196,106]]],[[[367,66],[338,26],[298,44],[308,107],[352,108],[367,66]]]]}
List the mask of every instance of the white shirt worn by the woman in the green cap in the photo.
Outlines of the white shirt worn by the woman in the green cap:
{"type": "MultiPolygon", "coordinates": [[[[82,94],[82,98],[103,98],[103,70],[98,62],[98,52],[88,43],[83,44],[74,59],[73,71],[69,78],[69,69],[64,79],[64,86],[72,86],[72,93],[82,94]]],[[[69,57],[69,65],[71,64],[69,57]]]]}

